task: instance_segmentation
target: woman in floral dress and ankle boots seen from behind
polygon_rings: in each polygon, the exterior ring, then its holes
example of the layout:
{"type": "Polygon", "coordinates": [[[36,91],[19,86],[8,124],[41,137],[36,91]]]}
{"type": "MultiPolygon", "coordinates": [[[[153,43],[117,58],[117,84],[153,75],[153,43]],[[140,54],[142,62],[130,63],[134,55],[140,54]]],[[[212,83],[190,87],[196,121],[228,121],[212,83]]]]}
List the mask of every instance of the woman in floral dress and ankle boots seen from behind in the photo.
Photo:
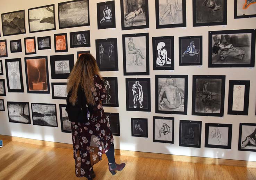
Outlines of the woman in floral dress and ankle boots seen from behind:
{"type": "Polygon", "coordinates": [[[93,165],[102,159],[103,153],[108,158],[109,171],[113,175],[116,170],[121,171],[125,163],[115,162],[113,135],[102,108],[106,89],[91,54],[82,54],[77,59],[69,76],[67,92],[67,105],[81,102],[83,110],[88,105],[91,112],[88,121],[86,118],[82,122],[71,121],[76,176],[92,180],[95,177],[93,165]]]}

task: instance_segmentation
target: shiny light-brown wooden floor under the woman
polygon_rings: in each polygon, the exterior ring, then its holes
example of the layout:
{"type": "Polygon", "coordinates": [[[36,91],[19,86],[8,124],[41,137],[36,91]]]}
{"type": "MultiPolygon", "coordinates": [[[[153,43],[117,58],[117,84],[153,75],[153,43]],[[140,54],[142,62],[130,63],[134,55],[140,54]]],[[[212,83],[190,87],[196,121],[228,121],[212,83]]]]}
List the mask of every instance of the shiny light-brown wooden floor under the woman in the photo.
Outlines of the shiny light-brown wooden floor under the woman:
{"type": "MultiPolygon", "coordinates": [[[[72,150],[4,140],[0,180],[86,180],[77,178],[72,150]]],[[[108,161],[94,165],[94,180],[256,180],[256,169],[116,156],[126,167],[116,175],[108,161]]]]}

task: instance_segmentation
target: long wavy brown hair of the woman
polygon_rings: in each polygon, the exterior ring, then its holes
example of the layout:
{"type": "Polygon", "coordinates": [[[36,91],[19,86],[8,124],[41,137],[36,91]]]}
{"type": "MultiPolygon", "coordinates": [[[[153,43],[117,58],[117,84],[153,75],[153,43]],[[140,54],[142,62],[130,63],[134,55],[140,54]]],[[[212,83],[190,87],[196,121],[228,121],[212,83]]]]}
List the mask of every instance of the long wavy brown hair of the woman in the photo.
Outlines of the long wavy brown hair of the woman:
{"type": "Polygon", "coordinates": [[[81,86],[87,103],[94,105],[95,101],[92,95],[92,88],[94,87],[94,75],[99,74],[99,67],[96,64],[95,58],[89,54],[82,54],[76,61],[74,68],[72,69],[67,83],[67,92],[71,93],[69,102],[75,105],[77,100],[78,87],[81,86]]]}

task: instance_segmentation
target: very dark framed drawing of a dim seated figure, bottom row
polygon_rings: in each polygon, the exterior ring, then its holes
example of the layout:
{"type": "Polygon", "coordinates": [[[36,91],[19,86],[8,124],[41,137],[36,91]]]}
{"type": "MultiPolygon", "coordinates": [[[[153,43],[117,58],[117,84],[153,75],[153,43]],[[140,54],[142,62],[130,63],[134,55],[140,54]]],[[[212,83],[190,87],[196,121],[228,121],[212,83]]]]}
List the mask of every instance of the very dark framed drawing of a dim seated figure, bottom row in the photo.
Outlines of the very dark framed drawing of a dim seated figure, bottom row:
{"type": "Polygon", "coordinates": [[[179,146],[201,148],[202,121],[180,120],[179,146]]]}

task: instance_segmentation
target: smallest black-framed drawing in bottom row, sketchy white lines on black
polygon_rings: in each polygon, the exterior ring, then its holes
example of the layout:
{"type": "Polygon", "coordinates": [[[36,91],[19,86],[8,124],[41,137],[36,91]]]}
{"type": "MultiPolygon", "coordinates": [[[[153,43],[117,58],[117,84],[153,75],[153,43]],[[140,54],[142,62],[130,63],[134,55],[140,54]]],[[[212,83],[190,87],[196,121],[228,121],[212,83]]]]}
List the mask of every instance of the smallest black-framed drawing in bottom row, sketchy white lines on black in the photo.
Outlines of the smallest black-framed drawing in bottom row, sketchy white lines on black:
{"type": "Polygon", "coordinates": [[[131,136],[147,138],[147,119],[131,118],[131,136]]]}

